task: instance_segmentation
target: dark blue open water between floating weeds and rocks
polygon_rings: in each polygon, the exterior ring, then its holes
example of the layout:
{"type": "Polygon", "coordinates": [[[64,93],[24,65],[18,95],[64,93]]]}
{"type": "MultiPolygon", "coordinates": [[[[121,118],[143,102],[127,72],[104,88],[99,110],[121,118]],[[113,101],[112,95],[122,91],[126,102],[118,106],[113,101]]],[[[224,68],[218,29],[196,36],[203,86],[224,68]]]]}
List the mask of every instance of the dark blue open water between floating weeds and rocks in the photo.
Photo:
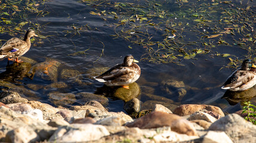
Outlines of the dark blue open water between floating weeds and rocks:
{"type": "MultiPolygon", "coordinates": [[[[121,1],[112,1],[121,2],[121,1]]],[[[129,1],[122,1],[129,2],[129,1]]],[[[134,1],[138,2],[139,1],[134,1]]],[[[37,17],[35,15],[29,15],[31,20],[37,21],[38,24],[45,25],[44,30],[40,35],[53,35],[48,39],[43,39],[43,43],[37,43],[32,45],[32,48],[24,55],[25,57],[32,58],[33,60],[43,62],[46,58],[54,58],[62,61],[70,69],[78,70],[82,73],[82,82],[91,83],[87,86],[70,85],[65,89],[65,93],[77,94],[79,92],[91,92],[97,91],[97,88],[103,86],[103,83],[99,83],[96,80],[90,78],[90,75],[86,73],[87,70],[93,67],[111,67],[115,64],[122,63],[124,56],[127,54],[134,55],[136,60],[141,60],[146,50],[143,46],[132,45],[132,49],[128,48],[131,43],[121,38],[113,38],[115,31],[113,30],[112,23],[115,21],[113,18],[103,20],[98,15],[89,14],[91,11],[95,11],[95,7],[92,5],[86,5],[86,3],[63,0],[63,1],[47,1],[45,5],[41,6],[46,8],[50,13],[45,17],[37,17]],[[86,25],[90,29],[86,29],[86,25]],[[72,26],[80,27],[84,26],[84,30],[79,34],[74,32],[72,26]],[[67,30],[71,33],[67,33],[67,30]],[[70,55],[79,51],[86,51],[86,54],[70,55]],[[100,57],[104,49],[104,55],[100,57]],[[95,62],[96,61],[96,62],[95,62]]],[[[166,10],[173,13],[179,10],[179,7],[174,4],[174,1],[167,2],[165,5],[166,10]]],[[[241,6],[242,7],[242,6],[241,6]]],[[[246,6],[243,6],[246,8],[246,6]]],[[[107,8],[107,5],[105,7],[107,8]]],[[[181,10],[182,11],[182,10],[181,10]]],[[[185,10],[184,10],[185,11],[185,10]]],[[[179,17],[177,21],[185,22],[186,19],[179,17]]],[[[153,32],[153,38],[164,39],[162,32],[153,32]]],[[[184,31],[188,41],[197,41],[191,32],[184,31]]],[[[5,33],[0,34],[0,39],[10,39],[5,33]]],[[[35,38],[37,41],[38,38],[35,38]]],[[[229,39],[232,41],[232,39],[229,39]]],[[[198,48],[198,47],[194,47],[198,48]]],[[[202,45],[199,48],[204,48],[202,45]]],[[[252,47],[255,48],[255,47],[252,47]]],[[[245,58],[248,51],[237,48],[234,45],[221,45],[213,49],[212,54],[215,51],[224,54],[228,53],[235,55],[234,57],[245,58]]],[[[254,55],[255,56],[255,55],[254,55]]],[[[230,106],[227,101],[222,100],[224,90],[221,89],[222,83],[225,82],[227,77],[234,71],[233,69],[224,68],[230,60],[224,57],[211,57],[210,54],[197,55],[196,60],[180,60],[183,66],[179,66],[174,63],[150,63],[142,60],[138,65],[141,67],[141,76],[137,80],[139,86],[151,86],[155,91],[154,95],[159,97],[169,98],[176,101],[178,104],[209,104],[221,107],[222,110],[233,112],[240,109],[240,105],[230,106]],[[177,100],[175,95],[169,95],[161,89],[161,82],[173,79],[177,81],[183,81],[186,85],[186,95],[181,101],[177,100]],[[145,82],[146,81],[146,82],[145,82]],[[152,82],[155,84],[147,84],[152,82]]],[[[0,67],[6,67],[7,60],[1,61],[0,67]]],[[[1,69],[4,72],[5,69],[1,69]]],[[[49,85],[52,82],[34,77],[33,80],[24,78],[19,80],[21,83],[17,85],[27,84],[39,84],[49,85]]],[[[65,81],[64,81],[65,82],[65,81]]],[[[54,91],[54,89],[53,89],[54,91]]],[[[43,90],[35,91],[39,97],[39,101],[50,103],[46,93],[43,90]]],[[[145,102],[149,100],[141,91],[140,100],[145,102]]],[[[110,111],[124,111],[124,101],[114,100],[109,98],[109,105],[107,106],[110,111]]]]}

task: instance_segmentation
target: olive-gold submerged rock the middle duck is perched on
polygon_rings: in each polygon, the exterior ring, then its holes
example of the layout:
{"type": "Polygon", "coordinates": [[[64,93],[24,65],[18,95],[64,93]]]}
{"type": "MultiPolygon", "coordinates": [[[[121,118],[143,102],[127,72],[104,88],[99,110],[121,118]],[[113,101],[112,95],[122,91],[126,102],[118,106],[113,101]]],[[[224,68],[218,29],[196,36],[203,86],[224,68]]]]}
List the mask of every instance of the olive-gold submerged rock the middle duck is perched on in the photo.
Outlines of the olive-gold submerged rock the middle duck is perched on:
{"type": "Polygon", "coordinates": [[[138,84],[134,82],[129,84],[128,86],[129,89],[121,87],[113,91],[113,97],[116,97],[125,102],[137,98],[138,95],[140,95],[140,87],[138,86],[138,84]]]}

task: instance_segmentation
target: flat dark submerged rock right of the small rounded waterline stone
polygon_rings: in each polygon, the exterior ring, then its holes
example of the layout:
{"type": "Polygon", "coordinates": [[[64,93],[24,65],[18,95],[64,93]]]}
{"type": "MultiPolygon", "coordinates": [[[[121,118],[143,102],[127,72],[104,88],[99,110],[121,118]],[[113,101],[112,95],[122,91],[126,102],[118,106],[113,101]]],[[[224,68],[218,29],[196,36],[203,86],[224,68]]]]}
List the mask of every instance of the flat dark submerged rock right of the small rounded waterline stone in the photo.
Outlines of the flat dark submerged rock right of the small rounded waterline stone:
{"type": "Polygon", "coordinates": [[[174,108],[177,107],[177,105],[170,104],[168,102],[147,100],[141,105],[141,110],[153,110],[156,104],[164,105],[164,107],[168,108],[171,111],[173,111],[174,108]]]}

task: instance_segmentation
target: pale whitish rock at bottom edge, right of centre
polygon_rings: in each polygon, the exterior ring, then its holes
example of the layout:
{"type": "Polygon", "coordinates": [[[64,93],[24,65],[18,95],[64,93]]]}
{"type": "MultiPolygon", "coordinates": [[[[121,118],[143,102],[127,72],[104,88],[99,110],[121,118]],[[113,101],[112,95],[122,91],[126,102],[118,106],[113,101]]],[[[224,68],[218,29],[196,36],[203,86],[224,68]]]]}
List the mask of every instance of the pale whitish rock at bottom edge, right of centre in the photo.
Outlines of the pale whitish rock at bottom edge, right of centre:
{"type": "Polygon", "coordinates": [[[209,131],[207,134],[203,137],[202,143],[233,143],[231,139],[227,136],[225,132],[213,132],[209,131]]]}

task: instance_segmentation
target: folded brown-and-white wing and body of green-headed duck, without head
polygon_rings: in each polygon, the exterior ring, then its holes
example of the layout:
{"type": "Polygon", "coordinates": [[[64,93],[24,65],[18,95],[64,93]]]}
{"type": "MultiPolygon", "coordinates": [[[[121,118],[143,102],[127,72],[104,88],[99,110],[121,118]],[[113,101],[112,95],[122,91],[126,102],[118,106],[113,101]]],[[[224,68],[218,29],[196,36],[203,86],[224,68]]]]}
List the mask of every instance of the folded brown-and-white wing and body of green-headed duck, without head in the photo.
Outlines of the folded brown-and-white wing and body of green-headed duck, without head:
{"type": "Polygon", "coordinates": [[[222,89],[229,89],[230,91],[241,91],[251,88],[256,84],[256,73],[253,71],[236,70],[228,77],[223,84],[222,89]]]}

